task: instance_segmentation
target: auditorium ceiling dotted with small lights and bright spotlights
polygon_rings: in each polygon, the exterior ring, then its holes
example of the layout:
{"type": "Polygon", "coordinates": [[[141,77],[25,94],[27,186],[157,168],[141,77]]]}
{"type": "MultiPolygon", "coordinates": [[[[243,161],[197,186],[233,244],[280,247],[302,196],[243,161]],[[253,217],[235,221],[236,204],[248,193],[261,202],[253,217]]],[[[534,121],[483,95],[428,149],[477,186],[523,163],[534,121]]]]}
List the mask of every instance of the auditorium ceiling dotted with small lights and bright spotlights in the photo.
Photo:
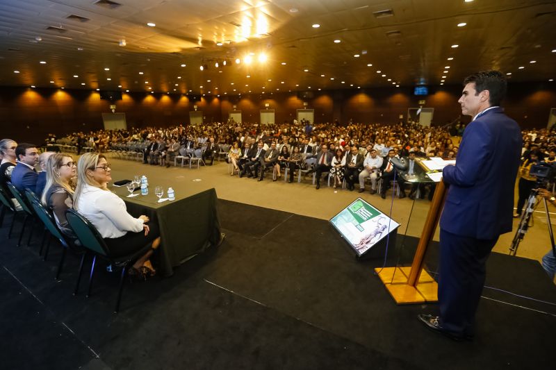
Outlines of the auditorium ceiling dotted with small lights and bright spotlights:
{"type": "Polygon", "coordinates": [[[237,94],[460,83],[489,68],[514,81],[556,77],[555,1],[115,1],[0,0],[0,85],[237,94]],[[392,15],[375,16],[383,10],[392,15]]]}

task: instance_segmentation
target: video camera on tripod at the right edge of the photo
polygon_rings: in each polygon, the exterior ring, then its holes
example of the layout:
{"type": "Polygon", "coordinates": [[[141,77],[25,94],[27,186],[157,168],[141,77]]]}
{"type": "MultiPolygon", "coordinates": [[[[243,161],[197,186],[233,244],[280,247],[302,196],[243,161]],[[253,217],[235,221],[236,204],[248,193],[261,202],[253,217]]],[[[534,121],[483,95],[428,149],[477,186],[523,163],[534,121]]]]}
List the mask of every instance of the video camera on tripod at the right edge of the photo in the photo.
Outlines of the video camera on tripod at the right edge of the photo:
{"type": "MultiPolygon", "coordinates": [[[[531,216],[534,212],[534,209],[537,205],[537,195],[539,194],[539,189],[546,189],[548,190],[553,186],[555,183],[556,178],[556,162],[538,162],[536,165],[532,165],[529,171],[530,176],[534,176],[537,178],[537,183],[531,193],[529,194],[529,198],[525,202],[525,212],[523,212],[523,216],[521,216],[521,220],[519,221],[519,227],[514,235],[514,239],[512,240],[512,245],[509,247],[509,254],[516,255],[517,247],[523,237],[525,237],[525,233],[529,228],[529,221],[531,216]]],[[[552,191],[550,189],[550,191],[552,191]]],[[[546,219],[548,223],[548,234],[550,235],[550,242],[554,245],[554,235],[552,230],[552,224],[550,224],[550,214],[548,213],[548,205],[546,204],[546,199],[544,201],[544,209],[546,210],[546,219]]]]}

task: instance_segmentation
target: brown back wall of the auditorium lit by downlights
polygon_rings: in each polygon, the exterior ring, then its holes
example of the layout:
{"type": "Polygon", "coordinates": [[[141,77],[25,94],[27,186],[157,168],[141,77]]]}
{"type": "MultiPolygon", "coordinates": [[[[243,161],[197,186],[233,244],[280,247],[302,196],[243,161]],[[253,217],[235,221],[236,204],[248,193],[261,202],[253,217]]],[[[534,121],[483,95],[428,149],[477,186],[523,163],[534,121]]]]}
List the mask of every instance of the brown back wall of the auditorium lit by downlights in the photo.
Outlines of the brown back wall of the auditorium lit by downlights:
{"type": "MultiPolygon", "coordinates": [[[[222,98],[132,92],[122,94],[115,105],[116,112],[126,114],[128,126],[143,128],[188,124],[194,106],[208,123],[227,119],[231,110],[240,110],[243,121],[256,122],[264,109],[275,110],[275,122],[282,123],[292,121],[303,108],[314,109],[317,122],[391,123],[425,100],[425,107],[434,108],[433,123],[443,124],[460,114],[460,93],[461,85],[430,87],[427,96],[415,96],[412,87],[386,87],[316,91],[311,99],[295,92],[222,98]]],[[[95,131],[103,128],[102,113],[110,112],[109,106],[96,91],[0,87],[1,137],[40,143],[48,133],[95,131]]],[[[504,106],[522,128],[546,127],[550,108],[556,108],[556,85],[511,83],[504,106]]]]}

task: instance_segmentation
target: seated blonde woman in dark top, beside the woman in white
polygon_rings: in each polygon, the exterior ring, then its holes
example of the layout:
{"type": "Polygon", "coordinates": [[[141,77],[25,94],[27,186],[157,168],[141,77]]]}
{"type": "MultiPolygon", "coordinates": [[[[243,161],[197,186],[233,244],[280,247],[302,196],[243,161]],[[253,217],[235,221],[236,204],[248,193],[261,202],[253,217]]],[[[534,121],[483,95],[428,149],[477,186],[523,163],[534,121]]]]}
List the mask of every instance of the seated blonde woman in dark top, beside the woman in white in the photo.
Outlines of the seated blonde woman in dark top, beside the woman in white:
{"type": "Polygon", "coordinates": [[[67,224],[65,211],[73,208],[75,191],[75,177],[77,174],[76,162],[64,153],[53,153],[49,156],[44,166],[46,184],[40,201],[44,207],[54,213],[58,228],[67,237],[75,238],[72,228],[67,224]]]}

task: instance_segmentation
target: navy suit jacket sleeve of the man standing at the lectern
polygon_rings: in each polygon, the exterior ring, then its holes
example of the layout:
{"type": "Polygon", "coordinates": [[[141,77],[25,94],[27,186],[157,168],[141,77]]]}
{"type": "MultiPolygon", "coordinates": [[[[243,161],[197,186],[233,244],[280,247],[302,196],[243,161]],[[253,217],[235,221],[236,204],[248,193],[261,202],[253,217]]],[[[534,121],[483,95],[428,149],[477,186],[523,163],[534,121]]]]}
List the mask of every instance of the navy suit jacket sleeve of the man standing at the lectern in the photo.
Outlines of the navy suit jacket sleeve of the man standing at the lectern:
{"type": "Polygon", "coordinates": [[[482,172],[488,170],[484,169],[482,164],[492,155],[493,148],[489,146],[489,142],[492,141],[491,133],[484,125],[483,121],[473,121],[466,128],[456,165],[446,166],[443,169],[445,183],[471,187],[482,178],[482,172]]]}

